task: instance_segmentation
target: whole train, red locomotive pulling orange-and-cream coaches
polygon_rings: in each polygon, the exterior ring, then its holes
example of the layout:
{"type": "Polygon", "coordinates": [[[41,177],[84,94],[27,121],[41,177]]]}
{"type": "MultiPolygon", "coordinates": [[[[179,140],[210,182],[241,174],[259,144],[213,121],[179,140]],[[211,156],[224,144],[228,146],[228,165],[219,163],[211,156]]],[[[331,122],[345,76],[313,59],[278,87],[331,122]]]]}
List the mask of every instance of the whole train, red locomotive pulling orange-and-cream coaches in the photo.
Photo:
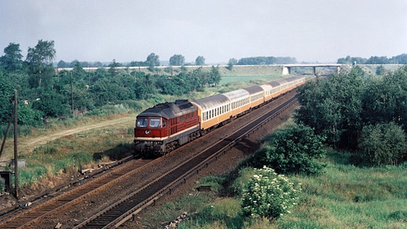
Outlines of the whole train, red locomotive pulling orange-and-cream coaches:
{"type": "Polygon", "coordinates": [[[310,76],[279,78],[260,86],[250,86],[194,101],[164,102],[136,117],[134,151],[159,157],[204,136],[304,84],[310,76]]]}

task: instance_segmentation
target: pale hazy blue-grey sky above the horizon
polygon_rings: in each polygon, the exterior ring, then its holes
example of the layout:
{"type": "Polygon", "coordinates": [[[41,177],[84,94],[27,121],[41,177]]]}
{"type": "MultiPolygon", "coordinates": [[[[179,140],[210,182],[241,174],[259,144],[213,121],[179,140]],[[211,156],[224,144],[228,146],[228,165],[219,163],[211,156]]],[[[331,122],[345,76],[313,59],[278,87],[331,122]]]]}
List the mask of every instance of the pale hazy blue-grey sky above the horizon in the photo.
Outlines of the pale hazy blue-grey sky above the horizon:
{"type": "Polygon", "coordinates": [[[25,59],[38,40],[66,62],[394,57],[407,53],[407,0],[0,0],[0,56],[14,42],[25,59]]]}

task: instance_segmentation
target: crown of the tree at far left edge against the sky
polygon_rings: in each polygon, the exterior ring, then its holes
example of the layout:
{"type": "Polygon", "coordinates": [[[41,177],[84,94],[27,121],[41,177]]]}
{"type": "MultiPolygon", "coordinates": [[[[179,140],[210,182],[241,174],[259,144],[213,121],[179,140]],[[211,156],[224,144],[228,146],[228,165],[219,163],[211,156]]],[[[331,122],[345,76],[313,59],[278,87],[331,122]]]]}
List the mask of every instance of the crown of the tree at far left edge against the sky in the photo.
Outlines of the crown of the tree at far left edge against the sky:
{"type": "Polygon", "coordinates": [[[10,43],[4,48],[4,56],[0,57],[0,67],[6,71],[16,71],[23,68],[23,55],[20,45],[10,43]]]}

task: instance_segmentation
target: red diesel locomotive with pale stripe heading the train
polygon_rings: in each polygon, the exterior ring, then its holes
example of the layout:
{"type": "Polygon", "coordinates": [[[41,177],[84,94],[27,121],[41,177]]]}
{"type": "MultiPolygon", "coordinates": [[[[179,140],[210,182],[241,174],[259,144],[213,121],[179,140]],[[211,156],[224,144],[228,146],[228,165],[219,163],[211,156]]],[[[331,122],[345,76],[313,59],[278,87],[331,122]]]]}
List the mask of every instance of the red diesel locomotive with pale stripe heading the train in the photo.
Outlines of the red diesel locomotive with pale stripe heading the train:
{"type": "Polygon", "coordinates": [[[165,102],[138,114],[134,128],[136,151],[164,155],[199,137],[198,109],[188,100],[165,102]]]}

